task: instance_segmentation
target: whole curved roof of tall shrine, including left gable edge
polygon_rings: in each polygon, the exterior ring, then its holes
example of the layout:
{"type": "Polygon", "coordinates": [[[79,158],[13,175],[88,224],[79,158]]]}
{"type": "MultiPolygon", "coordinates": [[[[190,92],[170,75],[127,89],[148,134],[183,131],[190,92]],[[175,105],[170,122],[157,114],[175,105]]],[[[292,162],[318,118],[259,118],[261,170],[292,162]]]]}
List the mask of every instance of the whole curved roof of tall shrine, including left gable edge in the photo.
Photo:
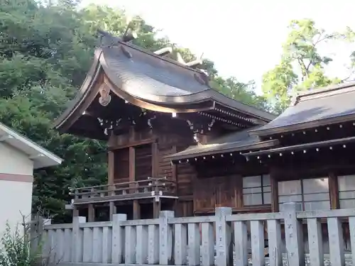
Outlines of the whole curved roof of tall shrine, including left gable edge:
{"type": "Polygon", "coordinates": [[[200,70],[117,40],[114,46],[97,48],[80,92],[55,122],[55,128],[60,128],[75,110],[82,111],[85,99],[94,99],[92,94],[99,93],[97,77],[102,72],[107,77],[104,83],[111,92],[144,109],[196,112],[214,109],[215,104],[219,104],[262,121],[275,118],[271,113],[216,92],[209,87],[207,75],[200,70]]]}

